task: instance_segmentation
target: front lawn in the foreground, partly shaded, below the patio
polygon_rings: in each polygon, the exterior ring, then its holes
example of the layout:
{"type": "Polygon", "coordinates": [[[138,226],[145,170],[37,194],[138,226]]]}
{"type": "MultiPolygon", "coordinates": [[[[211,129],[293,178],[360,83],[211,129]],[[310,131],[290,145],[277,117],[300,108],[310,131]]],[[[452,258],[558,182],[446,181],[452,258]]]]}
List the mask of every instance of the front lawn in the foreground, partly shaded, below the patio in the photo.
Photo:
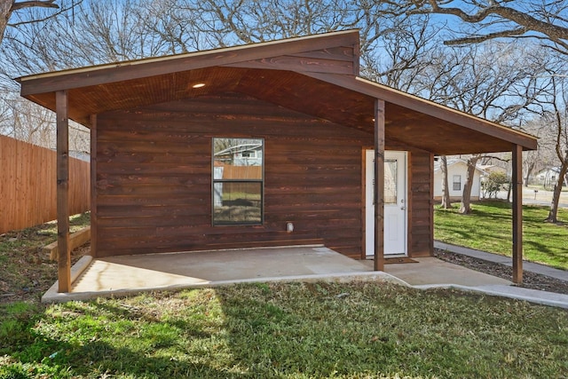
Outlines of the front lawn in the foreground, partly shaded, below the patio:
{"type": "Polygon", "coordinates": [[[0,320],[0,378],[568,373],[566,310],[384,283],[272,283],[48,307],[4,304],[0,320]]]}

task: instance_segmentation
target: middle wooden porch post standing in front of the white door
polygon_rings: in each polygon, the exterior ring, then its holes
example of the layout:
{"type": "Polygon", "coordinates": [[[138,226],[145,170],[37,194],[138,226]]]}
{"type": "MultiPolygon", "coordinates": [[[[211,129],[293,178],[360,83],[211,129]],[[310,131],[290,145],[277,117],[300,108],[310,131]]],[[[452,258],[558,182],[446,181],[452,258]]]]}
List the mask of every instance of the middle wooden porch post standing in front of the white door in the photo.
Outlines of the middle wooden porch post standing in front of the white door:
{"type": "Polygon", "coordinates": [[[384,271],[384,101],[375,99],[375,271],[384,271]]]}

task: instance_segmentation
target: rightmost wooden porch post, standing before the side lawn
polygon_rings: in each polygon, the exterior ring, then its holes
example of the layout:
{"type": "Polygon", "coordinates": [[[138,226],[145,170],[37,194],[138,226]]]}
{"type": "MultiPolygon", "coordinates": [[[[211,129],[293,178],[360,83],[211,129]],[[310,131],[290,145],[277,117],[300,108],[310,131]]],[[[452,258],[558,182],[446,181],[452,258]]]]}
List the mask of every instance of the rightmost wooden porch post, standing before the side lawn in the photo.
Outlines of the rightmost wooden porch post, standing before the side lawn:
{"type": "Polygon", "coordinates": [[[523,146],[513,146],[513,282],[523,282],[523,146]]]}

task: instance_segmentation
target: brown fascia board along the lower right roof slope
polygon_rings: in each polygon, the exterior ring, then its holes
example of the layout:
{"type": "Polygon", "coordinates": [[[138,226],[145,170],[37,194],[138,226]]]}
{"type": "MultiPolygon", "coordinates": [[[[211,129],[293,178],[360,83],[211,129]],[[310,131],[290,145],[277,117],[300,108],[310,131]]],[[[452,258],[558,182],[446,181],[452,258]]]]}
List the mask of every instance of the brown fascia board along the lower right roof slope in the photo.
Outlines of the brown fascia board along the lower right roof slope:
{"type": "Polygon", "coordinates": [[[311,76],[315,79],[339,85],[351,91],[359,91],[367,96],[383,99],[384,101],[396,104],[400,107],[414,109],[422,114],[428,114],[432,117],[458,124],[470,130],[476,130],[495,138],[501,138],[505,141],[509,141],[511,144],[523,146],[527,150],[536,150],[537,148],[537,138],[522,131],[513,130],[499,125],[498,123],[489,122],[471,114],[466,114],[449,107],[441,106],[430,100],[421,99],[405,92],[391,89],[383,86],[382,84],[363,79],[359,76],[353,77],[348,75],[310,72],[298,74],[311,76]]]}

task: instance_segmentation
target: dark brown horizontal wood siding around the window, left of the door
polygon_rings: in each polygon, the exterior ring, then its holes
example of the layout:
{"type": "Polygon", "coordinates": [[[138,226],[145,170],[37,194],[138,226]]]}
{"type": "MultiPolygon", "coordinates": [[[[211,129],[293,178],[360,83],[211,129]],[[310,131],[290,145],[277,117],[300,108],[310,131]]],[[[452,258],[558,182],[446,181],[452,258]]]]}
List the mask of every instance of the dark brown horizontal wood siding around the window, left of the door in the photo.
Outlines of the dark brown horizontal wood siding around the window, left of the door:
{"type": "Polygon", "coordinates": [[[359,257],[372,138],[236,94],[99,114],[96,255],[321,241],[359,257]],[[213,137],[264,138],[264,225],[211,225],[213,137]]]}

